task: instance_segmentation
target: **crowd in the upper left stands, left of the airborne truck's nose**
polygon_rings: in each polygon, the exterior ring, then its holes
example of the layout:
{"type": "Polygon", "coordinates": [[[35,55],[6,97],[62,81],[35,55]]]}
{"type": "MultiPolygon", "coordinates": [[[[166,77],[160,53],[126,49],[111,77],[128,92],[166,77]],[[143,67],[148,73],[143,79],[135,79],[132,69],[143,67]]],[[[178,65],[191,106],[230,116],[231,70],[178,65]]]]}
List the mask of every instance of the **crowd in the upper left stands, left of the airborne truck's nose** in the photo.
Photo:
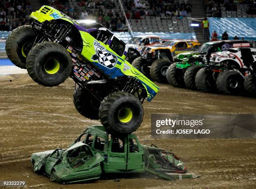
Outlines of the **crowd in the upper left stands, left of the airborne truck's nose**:
{"type": "Polygon", "coordinates": [[[18,26],[29,24],[31,4],[28,0],[0,1],[0,31],[11,31],[18,26]]]}

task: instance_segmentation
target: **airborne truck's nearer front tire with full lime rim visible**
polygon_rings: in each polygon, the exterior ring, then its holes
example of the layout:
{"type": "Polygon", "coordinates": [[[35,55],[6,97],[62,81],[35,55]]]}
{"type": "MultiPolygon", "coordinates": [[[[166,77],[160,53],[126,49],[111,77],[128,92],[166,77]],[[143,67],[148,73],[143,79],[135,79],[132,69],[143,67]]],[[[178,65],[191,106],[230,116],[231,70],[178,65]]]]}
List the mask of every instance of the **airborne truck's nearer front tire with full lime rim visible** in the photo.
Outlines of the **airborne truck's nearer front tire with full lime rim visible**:
{"type": "Polygon", "coordinates": [[[28,53],[28,75],[38,84],[56,86],[64,82],[72,70],[67,50],[55,42],[37,44],[28,53]]]}

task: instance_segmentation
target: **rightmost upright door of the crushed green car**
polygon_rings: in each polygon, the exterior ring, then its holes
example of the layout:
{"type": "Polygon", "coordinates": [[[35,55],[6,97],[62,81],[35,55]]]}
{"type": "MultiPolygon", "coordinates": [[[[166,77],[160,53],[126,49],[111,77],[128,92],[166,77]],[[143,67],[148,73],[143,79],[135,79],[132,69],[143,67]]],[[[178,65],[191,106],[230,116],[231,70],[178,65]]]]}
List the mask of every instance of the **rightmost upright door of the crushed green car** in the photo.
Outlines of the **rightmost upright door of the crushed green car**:
{"type": "Polygon", "coordinates": [[[143,150],[138,141],[138,138],[130,134],[128,138],[128,161],[127,169],[144,169],[145,162],[143,162],[143,150]]]}

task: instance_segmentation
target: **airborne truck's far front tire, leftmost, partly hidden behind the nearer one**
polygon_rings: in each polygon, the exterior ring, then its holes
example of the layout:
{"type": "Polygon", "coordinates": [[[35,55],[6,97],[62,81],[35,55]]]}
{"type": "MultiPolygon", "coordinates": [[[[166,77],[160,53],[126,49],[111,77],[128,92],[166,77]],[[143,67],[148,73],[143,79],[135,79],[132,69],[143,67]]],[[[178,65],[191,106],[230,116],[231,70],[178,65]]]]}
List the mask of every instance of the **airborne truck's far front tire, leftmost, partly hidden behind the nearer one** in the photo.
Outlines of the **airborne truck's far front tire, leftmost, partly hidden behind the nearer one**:
{"type": "Polygon", "coordinates": [[[5,50],[15,66],[26,69],[26,58],[35,40],[36,34],[30,25],[19,26],[9,34],[5,50]]]}

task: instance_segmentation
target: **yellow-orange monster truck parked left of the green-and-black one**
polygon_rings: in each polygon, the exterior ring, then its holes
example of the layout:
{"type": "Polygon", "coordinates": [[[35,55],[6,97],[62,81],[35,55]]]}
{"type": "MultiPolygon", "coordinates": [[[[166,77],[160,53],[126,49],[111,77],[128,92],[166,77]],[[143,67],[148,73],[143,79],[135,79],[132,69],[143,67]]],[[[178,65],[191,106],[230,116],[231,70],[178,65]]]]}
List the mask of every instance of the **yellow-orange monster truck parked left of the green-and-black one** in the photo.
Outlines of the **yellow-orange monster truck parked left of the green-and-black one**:
{"type": "Polygon", "coordinates": [[[195,51],[201,44],[192,40],[169,40],[162,44],[144,46],[141,57],[132,65],[141,73],[158,82],[167,82],[166,70],[174,62],[175,55],[195,51]]]}

